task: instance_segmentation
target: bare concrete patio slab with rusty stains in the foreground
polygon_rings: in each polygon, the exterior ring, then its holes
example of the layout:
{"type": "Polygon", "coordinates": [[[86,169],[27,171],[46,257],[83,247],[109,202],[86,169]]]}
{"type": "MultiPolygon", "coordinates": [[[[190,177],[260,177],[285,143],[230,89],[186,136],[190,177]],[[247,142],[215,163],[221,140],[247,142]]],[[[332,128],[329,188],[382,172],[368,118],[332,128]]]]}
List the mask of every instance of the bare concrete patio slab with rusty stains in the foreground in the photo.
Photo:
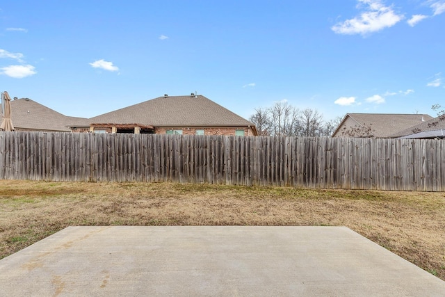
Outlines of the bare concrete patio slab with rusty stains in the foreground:
{"type": "Polygon", "coordinates": [[[445,296],[346,227],[67,227],[0,260],[0,296],[445,296]]]}

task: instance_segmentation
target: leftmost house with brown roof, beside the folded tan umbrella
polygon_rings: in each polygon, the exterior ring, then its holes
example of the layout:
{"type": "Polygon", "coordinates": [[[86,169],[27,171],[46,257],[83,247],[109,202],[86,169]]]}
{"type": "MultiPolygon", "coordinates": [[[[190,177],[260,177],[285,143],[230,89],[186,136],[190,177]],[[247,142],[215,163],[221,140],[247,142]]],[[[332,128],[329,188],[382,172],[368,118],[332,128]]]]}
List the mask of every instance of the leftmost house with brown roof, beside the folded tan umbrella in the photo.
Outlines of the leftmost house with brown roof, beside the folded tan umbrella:
{"type": "MultiPolygon", "coordinates": [[[[67,117],[29,98],[17,99],[15,97],[10,104],[11,119],[15,131],[70,132],[67,122],[83,122],[86,120],[85,118],[67,117]]],[[[3,115],[0,114],[0,122],[1,120],[3,120],[3,115]]]]}

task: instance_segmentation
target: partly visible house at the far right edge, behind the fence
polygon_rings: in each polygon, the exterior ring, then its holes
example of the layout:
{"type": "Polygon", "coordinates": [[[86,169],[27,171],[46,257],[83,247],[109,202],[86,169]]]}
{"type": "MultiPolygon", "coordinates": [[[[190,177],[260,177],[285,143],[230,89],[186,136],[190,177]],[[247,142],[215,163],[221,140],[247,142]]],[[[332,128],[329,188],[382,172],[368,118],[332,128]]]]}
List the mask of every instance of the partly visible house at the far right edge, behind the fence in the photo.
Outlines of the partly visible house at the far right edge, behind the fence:
{"type": "Polygon", "coordinates": [[[445,115],[399,131],[391,135],[391,138],[445,138],[445,115]]]}

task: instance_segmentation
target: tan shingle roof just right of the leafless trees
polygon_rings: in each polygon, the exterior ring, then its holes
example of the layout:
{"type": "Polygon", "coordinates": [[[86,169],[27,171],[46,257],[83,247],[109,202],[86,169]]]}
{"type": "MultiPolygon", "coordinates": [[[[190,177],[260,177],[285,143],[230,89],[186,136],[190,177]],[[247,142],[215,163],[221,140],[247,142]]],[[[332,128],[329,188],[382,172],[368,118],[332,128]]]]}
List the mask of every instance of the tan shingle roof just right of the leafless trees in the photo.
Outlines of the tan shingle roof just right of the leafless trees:
{"type": "MultiPolygon", "coordinates": [[[[371,134],[376,138],[391,137],[398,131],[414,125],[419,125],[422,123],[422,119],[425,121],[432,119],[430,115],[426,114],[348,113],[345,119],[348,116],[355,120],[359,125],[371,127],[371,134]]],[[[343,122],[344,119],[342,124],[343,122]]],[[[341,125],[339,127],[341,127],[341,125]]]]}

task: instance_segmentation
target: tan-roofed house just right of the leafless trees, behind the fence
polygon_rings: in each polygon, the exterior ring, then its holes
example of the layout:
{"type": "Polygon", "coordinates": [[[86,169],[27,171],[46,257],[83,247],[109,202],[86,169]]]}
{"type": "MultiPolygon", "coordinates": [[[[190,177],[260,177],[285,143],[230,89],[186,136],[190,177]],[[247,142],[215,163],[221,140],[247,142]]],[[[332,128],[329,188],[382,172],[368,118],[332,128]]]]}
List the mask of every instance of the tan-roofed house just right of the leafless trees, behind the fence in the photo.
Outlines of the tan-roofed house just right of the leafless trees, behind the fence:
{"type": "Polygon", "coordinates": [[[348,113],[332,137],[392,138],[399,131],[431,119],[426,114],[348,113]]]}

